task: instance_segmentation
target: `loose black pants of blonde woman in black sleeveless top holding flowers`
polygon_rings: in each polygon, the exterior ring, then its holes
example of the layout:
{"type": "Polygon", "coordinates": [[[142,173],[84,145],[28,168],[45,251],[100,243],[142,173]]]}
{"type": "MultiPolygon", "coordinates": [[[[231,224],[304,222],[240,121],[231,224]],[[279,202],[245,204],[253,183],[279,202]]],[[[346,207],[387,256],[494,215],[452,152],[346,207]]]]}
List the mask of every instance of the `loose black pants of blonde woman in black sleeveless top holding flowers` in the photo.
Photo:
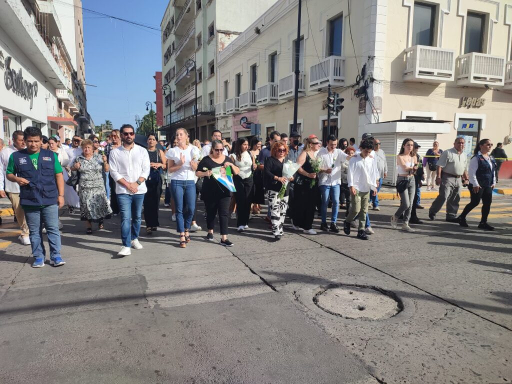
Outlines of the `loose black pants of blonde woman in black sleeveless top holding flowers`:
{"type": "Polygon", "coordinates": [[[318,184],[313,188],[309,187],[309,182],[293,186],[293,225],[302,229],[311,229],[319,195],[318,184]]]}

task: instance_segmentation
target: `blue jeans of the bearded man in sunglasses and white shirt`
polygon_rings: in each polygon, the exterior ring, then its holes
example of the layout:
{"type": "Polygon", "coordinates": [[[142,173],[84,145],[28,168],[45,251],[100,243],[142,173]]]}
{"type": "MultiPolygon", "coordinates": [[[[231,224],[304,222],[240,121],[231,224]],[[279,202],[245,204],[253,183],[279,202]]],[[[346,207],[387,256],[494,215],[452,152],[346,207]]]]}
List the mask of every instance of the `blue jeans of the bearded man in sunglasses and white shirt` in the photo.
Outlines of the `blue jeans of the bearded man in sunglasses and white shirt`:
{"type": "Polygon", "coordinates": [[[125,247],[130,248],[132,241],[139,237],[143,202],[144,194],[117,195],[117,203],[121,214],[121,241],[125,247]]]}

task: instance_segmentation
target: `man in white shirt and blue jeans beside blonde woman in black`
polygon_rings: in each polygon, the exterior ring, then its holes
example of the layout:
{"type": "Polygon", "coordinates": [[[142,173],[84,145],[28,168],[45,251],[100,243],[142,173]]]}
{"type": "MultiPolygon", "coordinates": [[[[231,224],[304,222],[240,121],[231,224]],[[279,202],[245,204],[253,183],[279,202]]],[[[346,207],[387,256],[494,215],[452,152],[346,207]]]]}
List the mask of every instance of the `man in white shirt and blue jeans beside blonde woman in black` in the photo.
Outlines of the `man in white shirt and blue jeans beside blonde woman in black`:
{"type": "Polygon", "coordinates": [[[339,207],[339,187],[342,183],[342,163],[347,159],[347,154],[337,148],[338,138],[334,135],[327,137],[327,146],[322,148],[317,157],[322,159],[322,165],[318,176],[320,194],[322,196],[322,224],[320,229],[338,233],[336,225],[339,207]],[[332,201],[331,226],[327,226],[327,205],[329,198],[332,201]]]}

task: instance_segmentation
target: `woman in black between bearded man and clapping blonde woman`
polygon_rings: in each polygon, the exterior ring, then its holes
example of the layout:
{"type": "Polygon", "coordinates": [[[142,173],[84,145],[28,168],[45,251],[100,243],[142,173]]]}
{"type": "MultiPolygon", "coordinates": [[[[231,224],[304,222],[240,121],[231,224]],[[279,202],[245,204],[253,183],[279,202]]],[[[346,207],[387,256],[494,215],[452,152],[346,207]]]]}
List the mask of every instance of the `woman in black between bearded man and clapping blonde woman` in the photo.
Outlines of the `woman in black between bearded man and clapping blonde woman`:
{"type": "Polygon", "coordinates": [[[144,195],[144,220],[146,233],[153,234],[160,226],[158,222],[158,208],[162,195],[162,170],[167,168],[165,154],[157,148],[158,139],[155,133],[147,135],[147,154],[150,156],[150,176],[145,181],[147,192],[144,195]]]}

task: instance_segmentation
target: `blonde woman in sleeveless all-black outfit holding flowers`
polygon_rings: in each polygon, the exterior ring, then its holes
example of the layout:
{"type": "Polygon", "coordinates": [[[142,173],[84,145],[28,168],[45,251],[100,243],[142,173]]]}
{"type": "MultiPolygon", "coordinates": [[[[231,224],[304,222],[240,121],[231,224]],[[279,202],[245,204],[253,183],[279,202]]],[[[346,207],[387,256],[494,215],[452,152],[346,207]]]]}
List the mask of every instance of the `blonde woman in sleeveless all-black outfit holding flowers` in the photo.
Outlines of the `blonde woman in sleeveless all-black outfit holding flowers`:
{"type": "Polygon", "coordinates": [[[297,209],[292,212],[292,227],[308,234],[316,234],[312,226],[318,195],[318,173],[322,164],[322,160],[316,158],[316,153],[321,144],[316,136],[308,137],[304,143],[304,151],[297,159],[297,164],[301,167],[298,168],[299,176],[293,187],[293,206],[297,209]]]}

